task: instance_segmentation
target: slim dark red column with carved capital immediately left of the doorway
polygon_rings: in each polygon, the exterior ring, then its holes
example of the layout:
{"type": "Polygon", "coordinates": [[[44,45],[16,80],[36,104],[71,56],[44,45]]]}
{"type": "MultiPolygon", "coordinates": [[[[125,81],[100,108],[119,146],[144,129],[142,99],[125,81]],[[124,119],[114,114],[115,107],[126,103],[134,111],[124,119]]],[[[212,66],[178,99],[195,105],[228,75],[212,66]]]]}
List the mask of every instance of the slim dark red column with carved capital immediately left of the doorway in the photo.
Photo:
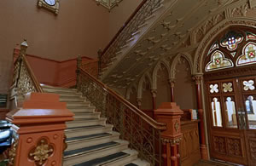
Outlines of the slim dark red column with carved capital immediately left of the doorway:
{"type": "Polygon", "coordinates": [[[200,118],[199,129],[200,129],[200,149],[201,149],[201,158],[208,160],[208,150],[206,144],[206,133],[205,133],[205,125],[204,125],[204,111],[202,109],[202,97],[201,97],[201,82],[202,75],[195,75],[193,77],[195,80],[195,90],[196,90],[196,101],[197,101],[197,109],[198,116],[200,118]]]}

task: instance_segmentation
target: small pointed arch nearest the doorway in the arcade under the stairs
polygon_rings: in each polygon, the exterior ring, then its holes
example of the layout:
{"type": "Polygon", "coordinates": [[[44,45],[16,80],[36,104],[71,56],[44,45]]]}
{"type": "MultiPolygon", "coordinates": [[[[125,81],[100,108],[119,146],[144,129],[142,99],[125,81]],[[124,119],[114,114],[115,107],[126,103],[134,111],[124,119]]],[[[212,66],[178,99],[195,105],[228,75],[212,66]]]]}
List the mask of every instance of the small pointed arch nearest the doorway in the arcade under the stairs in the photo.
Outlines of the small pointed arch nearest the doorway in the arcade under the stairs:
{"type": "Polygon", "coordinates": [[[183,57],[185,60],[189,62],[190,72],[191,72],[191,75],[193,75],[193,60],[191,55],[188,53],[179,53],[172,60],[170,78],[175,78],[176,66],[180,57],[183,57]]]}

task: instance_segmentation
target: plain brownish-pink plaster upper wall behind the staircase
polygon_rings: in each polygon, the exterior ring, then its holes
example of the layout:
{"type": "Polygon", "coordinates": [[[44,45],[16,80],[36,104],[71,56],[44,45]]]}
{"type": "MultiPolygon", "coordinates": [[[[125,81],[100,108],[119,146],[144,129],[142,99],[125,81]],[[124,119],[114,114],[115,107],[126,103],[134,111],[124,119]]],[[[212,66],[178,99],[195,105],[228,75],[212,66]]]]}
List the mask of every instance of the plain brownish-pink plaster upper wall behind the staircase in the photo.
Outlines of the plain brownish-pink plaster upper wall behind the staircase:
{"type": "MultiPolygon", "coordinates": [[[[124,0],[120,9],[109,13],[94,0],[61,0],[60,13],[55,16],[38,9],[38,0],[1,0],[0,93],[9,90],[13,49],[24,38],[29,44],[27,54],[50,60],[68,60],[78,54],[95,58],[97,50],[104,49],[113,37],[109,34],[117,32],[140,1],[124,0]]],[[[48,65],[49,69],[55,68],[50,62],[48,65]]]]}

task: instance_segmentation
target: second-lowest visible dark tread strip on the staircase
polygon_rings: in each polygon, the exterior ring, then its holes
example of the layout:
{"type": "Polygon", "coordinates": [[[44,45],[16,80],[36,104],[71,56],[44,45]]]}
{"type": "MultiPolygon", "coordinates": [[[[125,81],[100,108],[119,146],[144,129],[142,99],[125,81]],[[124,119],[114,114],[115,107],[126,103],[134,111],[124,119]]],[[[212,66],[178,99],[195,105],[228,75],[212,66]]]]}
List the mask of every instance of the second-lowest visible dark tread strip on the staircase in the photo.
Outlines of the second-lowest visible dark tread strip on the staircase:
{"type": "Polygon", "coordinates": [[[104,163],[109,163],[114,160],[119,160],[119,159],[122,159],[127,156],[129,156],[129,154],[127,154],[125,152],[116,152],[116,153],[113,153],[106,157],[96,158],[96,159],[90,160],[88,162],[75,164],[74,166],[104,165],[104,163]]]}

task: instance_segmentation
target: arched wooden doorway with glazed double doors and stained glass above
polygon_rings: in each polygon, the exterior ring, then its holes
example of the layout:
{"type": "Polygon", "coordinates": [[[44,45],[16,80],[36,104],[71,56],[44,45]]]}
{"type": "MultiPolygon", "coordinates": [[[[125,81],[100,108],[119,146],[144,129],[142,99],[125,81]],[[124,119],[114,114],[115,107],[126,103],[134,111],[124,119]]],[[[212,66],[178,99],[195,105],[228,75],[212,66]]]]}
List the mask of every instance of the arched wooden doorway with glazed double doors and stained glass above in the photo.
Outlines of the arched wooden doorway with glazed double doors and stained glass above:
{"type": "Polygon", "coordinates": [[[256,163],[256,34],[236,26],[212,41],[204,80],[210,156],[256,163]]]}

